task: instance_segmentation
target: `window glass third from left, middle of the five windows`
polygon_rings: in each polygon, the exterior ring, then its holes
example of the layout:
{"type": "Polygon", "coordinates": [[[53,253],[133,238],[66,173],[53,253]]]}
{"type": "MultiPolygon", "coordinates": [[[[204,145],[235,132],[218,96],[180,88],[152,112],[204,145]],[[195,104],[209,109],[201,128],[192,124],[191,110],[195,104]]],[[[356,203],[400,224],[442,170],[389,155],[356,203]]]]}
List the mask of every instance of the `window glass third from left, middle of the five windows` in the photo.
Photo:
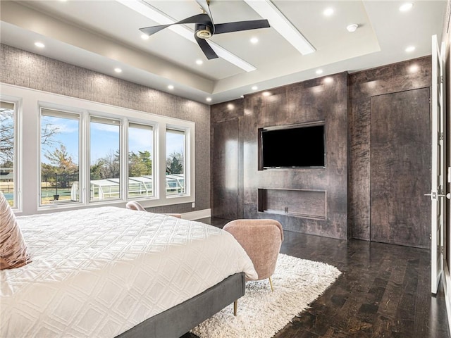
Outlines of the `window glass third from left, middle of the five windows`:
{"type": "Polygon", "coordinates": [[[121,120],[90,119],[89,201],[121,199],[121,120]]]}

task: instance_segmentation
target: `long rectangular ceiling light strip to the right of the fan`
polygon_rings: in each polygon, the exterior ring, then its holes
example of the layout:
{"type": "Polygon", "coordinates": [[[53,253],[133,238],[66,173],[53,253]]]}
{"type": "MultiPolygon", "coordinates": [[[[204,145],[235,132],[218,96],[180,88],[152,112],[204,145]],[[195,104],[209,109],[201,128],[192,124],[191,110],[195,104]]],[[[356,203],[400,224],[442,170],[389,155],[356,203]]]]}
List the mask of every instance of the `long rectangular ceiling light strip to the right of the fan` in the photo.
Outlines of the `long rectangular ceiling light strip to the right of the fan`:
{"type": "Polygon", "coordinates": [[[314,46],[307,41],[271,1],[245,0],[245,3],[259,13],[261,18],[267,19],[271,23],[271,27],[292,44],[299,53],[304,55],[315,51],[314,46]]]}

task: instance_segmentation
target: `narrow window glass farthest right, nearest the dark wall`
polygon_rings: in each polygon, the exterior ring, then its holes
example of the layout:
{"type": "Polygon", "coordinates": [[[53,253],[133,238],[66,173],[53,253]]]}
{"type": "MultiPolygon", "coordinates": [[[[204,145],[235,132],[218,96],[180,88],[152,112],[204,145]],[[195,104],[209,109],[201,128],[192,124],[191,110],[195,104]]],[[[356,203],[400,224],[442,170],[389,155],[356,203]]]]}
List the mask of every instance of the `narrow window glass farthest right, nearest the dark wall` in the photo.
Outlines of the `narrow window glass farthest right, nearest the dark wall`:
{"type": "Polygon", "coordinates": [[[166,130],[166,194],[185,194],[185,131],[166,130]]]}

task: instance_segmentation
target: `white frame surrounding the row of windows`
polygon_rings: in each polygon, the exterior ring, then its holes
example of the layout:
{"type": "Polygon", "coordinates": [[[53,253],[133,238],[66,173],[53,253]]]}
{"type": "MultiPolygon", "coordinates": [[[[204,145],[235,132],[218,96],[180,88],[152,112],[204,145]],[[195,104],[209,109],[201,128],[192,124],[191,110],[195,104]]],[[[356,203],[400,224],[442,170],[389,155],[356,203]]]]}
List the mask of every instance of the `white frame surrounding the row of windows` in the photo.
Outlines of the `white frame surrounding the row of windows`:
{"type": "MultiPolygon", "coordinates": [[[[195,178],[194,178],[194,133],[195,123],[192,121],[181,120],[178,118],[171,118],[163,115],[156,115],[144,111],[136,111],[130,108],[123,108],[118,106],[111,106],[107,104],[100,104],[98,102],[77,99],[70,96],[63,96],[59,94],[51,94],[35,89],[13,86],[11,84],[0,84],[2,99],[8,99],[9,96],[14,96],[22,104],[18,104],[18,123],[17,134],[18,137],[18,187],[19,194],[22,193],[23,187],[27,191],[23,192],[23,200],[18,202],[23,208],[18,211],[23,215],[32,213],[45,213],[56,211],[55,209],[74,209],[85,208],[88,206],[125,206],[128,199],[128,187],[125,180],[128,180],[128,122],[144,123],[154,127],[154,197],[149,199],[142,199],[140,203],[144,207],[167,206],[173,204],[186,204],[195,201],[195,178]],[[68,111],[72,113],[80,113],[80,203],[60,205],[54,204],[50,206],[39,206],[39,189],[40,184],[40,142],[32,140],[39,140],[40,137],[40,108],[55,109],[61,111],[68,111]],[[114,201],[94,201],[89,202],[89,120],[90,116],[95,115],[99,117],[113,118],[121,120],[121,199],[114,201]],[[24,125],[21,121],[26,122],[24,125]],[[187,147],[187,173],[186,184],[187,190],[182,196],[166,197],[166,128],[185,130],[187,147]],[[23,135],[27,135],[27,142],[22,144],[23,135]],[[30,142],[31,141],[31,142],[30,142]],[[23,145],[23,149],[22,146],[23,145]],[[23,151],[23,152],[22,152],[23,151]],[[83,163],[82,163],[83,162],[83,163]],[[24,168],[22,172],[21,168],[24,168]],[[163,175],[161,175],[161,173],[163,175]],[[20,179],[23,177],[23,180],[20,179]],[[164,184],[161,178],[164,178],[164,184]],[[26,182],[25,182],[26,181],[26,182]]],[[[11,101],[9,99],[8,101],[11,101]]]]}

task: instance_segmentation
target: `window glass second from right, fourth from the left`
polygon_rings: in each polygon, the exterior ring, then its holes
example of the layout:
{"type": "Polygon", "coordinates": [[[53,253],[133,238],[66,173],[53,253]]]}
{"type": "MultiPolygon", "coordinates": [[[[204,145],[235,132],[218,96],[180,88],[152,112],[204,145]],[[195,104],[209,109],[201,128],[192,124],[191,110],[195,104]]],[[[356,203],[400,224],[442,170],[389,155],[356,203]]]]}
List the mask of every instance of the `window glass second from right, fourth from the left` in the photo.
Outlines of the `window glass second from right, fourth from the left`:
{"type": "Polygon", "coordinates": [[[128,197],[154,196],[154,129],[152,125],[128,124],[128,197]]]}

